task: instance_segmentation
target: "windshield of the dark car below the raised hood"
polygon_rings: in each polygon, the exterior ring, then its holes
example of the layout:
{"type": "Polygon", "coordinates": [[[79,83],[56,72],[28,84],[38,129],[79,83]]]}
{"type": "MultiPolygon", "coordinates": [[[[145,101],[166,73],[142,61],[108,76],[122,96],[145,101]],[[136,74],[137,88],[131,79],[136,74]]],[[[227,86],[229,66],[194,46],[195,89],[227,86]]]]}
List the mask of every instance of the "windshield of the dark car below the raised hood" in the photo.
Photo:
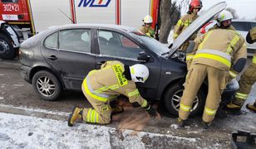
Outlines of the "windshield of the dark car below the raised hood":
{"type": "Polygon", "coordinates": [[[151,51],[155,54],[163,56],[170,53],[170,49],[165,46],[164,44],[156,41],[154,38],[149,36],[145,36],[144,34],[137,33],[137,32],[130,32],[132,36],[142,42],[145,46],[147,46],[151,51]]]}

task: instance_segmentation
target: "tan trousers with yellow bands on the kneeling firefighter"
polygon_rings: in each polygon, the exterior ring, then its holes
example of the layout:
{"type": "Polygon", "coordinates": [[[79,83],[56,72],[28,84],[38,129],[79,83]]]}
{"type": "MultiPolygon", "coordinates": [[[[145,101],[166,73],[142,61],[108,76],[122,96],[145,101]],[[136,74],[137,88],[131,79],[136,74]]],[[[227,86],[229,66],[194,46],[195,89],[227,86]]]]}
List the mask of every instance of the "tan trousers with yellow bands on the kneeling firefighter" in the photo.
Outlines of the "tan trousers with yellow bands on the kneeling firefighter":
{"type": "Polygon", "coordinates": [[[84,84],[81,84],[81,89],[86,99],[91,103],[93,108],[83,108],[82,119],[86,123],[111,123],[112,108],[110,101],[102,102],[98,99],[92,98],[86,93],[84,84]]]}

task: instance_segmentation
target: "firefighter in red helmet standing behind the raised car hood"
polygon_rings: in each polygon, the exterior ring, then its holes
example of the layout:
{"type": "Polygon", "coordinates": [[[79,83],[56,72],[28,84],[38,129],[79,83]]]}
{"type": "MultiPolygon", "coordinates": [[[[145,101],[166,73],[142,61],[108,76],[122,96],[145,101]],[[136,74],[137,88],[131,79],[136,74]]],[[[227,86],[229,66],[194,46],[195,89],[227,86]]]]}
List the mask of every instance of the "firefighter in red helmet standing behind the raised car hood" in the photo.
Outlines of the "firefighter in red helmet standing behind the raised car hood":
{"type": "MultiPolygon", "coordinates": [[[[173,39],[175,40],[182,31],[185,30],[186,27],[190,26],[192,22],[198,17],[197,13],[203,7],[202,2],[200,0],[191,0],[189,11],[185,16],[181,17],[175,26],[175,31],[173,35],[173,39]]],[[[196,37],[196,34],[190,38],[190,41],[193,41],[196,37]]],[[[187,41],[183,46],[181,46],[180,50],[186,50],[189,46],[189,41],[187,41]]]]}

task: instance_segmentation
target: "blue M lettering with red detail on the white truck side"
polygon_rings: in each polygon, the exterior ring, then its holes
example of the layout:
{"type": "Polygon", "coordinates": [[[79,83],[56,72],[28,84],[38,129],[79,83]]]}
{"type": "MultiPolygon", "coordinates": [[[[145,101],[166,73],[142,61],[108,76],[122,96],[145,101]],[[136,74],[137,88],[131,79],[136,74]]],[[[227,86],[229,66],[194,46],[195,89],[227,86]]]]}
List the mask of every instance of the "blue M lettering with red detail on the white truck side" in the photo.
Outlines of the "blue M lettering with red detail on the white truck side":
{"type": "Polygon", "coordinates": [[[111,0],[81,0],[78,7],[107,7],[111,0]]]}

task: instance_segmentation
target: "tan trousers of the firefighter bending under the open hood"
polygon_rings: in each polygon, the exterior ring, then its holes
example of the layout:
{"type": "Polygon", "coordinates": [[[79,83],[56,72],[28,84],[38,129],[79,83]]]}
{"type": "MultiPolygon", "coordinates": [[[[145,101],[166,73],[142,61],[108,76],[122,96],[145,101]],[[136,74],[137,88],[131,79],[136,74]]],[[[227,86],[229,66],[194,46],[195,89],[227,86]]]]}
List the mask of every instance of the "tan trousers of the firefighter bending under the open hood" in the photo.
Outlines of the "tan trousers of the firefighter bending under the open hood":
{"type": "Polygon", "coordinates": [[[209,91],[204,106],[203,121],[205,123],[212,122],[219,108],[221,93],[225,88],[225,74],[227,74],[226,71],[218,70],[209,65],[191,65],[185,81],[185,90],[180,99],[179,117],[183,120],[189,117],[195,96],[207,77],[209,91]]]}

